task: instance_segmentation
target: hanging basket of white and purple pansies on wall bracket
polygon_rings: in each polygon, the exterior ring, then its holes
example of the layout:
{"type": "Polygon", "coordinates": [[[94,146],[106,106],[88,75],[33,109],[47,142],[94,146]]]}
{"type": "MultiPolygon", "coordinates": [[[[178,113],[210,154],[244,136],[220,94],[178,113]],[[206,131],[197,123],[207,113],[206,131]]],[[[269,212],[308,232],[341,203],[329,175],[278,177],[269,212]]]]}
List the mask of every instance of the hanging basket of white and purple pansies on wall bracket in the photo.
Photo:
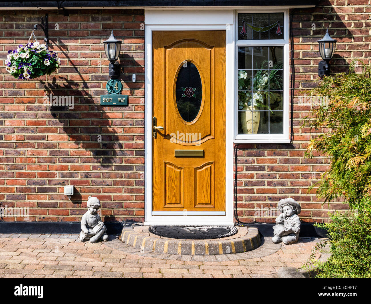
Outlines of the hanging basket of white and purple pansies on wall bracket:
{"type": "Polygon", "coordinates": [[[59,67],[57,53],[49,52],[45,44],[37,41],[32,31],[25,46],[19,45],[16,50],[9,50],[5,69],[18,79],[33,79],[50,75],[59,67]]]}

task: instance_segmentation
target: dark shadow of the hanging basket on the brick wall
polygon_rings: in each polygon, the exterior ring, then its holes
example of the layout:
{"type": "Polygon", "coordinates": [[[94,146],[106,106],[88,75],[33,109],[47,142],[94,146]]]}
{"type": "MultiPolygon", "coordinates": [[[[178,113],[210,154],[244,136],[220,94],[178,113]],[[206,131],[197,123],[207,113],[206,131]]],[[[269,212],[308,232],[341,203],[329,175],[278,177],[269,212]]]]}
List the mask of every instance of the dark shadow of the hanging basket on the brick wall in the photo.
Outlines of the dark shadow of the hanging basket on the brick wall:
{"type": "Polygon", "coordinates": [[[70,98],[69,101],[72,99],[74,101],[73,108],[69,105],[49,106],[52,117],[59,121],[63,131],[69,136],[69,140],[78,144],[79,148],[91,151],[90,156],[94,160],[87,156],[82,157],[81,162],[100,163],[103,167],[119,162],[119,159],[115,157],[118,156],[123,145],[115,141],[118,134],[110,128],[108,114],[103,107],[94,102],[88,83],[68,56],[67,46],[59,41],[53,44],[72,65],[72,67],[60,68],[59,73],[75,73],[80,76],[81,81],[69,80],[65,76],[58,76],[59,79],[53,77],[51,82],[41,81],[48,97],[52,94],[56,97],[65,96],[70,98]],[[78,102],[75,97],[78,98],[78,102]]]}

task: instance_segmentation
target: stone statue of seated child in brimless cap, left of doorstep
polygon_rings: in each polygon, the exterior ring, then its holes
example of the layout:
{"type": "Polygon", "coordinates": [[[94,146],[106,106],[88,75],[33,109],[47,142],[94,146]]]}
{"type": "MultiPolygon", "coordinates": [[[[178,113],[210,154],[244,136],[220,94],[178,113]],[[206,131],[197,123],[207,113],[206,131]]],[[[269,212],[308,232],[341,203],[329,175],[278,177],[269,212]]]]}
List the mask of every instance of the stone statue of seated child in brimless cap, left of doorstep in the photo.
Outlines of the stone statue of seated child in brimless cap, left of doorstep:
{"type": "Polygon", "coordinates": [[[81,233],[80,241],[89,241],[95,243],[102,239],[102,241],[108,240],[108,235],[104,222],[98,215],[97,211],[101,207],[101,203],[97,197],[88,197],[88,211],[82,216],[81,219],[81,233]]]}

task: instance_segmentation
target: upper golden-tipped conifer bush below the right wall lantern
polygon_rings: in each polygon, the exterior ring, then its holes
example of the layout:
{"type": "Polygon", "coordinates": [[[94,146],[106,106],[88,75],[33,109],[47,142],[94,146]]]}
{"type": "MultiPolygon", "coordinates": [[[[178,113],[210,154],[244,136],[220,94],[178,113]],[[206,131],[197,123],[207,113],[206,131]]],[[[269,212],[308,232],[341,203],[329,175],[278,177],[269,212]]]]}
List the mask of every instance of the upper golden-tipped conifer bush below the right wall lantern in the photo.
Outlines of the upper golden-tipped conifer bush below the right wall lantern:
{"type": "Polygon", "coordinates": [[[342,198],[349,207],[359,208],[371,201],[370,73],[371,67],[363,65],[362,74],[325,77],[312,92],[328,101],[313,108],[303,124],[323,132],[310,141],[307,156],[315,149],[331,158],[317,189],[325,202],[342,198]]]}

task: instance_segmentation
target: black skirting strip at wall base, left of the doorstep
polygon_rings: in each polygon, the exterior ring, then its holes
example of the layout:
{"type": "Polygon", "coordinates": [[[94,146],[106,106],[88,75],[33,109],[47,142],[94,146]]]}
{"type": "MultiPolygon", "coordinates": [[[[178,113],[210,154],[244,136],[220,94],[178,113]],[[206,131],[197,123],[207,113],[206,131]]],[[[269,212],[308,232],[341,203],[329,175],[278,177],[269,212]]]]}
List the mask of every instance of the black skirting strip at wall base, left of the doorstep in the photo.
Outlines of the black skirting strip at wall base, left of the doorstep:
{"type": "MultiPolygon", "coordinates": [[[[128,222],[105,222],[108,234],[120,234],[128,222]]],[[[78,234],[80,222],[0,222],[0,233],[78,234]]]]}

